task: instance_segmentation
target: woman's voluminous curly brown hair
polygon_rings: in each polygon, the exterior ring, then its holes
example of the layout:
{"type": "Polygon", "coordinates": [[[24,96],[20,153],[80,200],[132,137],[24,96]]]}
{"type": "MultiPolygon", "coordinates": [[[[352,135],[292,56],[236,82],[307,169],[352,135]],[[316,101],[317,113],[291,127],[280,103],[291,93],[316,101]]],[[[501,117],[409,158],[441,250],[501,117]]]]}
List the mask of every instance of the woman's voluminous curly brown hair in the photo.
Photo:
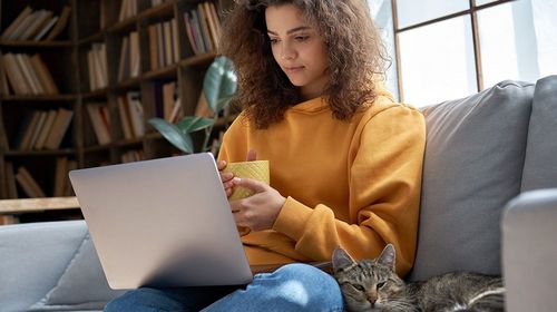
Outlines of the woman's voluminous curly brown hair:
{"type": "Polygon", "coordinates": [[[265,9],[292,3],[323,38],[330,82],[323,97],[333,117],[350,118],[375,99],[374,79],[384,77],[388,57],[365,0],[236,0],[223,25],[219,52],[236,67],[238,91],[232,100],[256,128],[283,119],[302,101],[300,90],[276,64],[265,23],[265,9]]]}

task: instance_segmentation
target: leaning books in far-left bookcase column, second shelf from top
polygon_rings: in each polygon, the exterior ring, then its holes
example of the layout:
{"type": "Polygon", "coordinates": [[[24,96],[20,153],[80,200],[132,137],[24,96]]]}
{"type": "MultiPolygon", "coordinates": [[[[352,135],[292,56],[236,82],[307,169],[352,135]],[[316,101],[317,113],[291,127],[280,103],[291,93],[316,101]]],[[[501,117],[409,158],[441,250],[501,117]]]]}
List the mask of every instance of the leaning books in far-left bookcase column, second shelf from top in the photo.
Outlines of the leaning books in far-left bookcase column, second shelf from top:
{"type": "Polygon", "coordinates": [[[2,94],[9,95],[11,87],[16,95],[58,95],[58,87],[39,55],[0,53],[0,59],[6,75],[1,77],[2,94]]]}

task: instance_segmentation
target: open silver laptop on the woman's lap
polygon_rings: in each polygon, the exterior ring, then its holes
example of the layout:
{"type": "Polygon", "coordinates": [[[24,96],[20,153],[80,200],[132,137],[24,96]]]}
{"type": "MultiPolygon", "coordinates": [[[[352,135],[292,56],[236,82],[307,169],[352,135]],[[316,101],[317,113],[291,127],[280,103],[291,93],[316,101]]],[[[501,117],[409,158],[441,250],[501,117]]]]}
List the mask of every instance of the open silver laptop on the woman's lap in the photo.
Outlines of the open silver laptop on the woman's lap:
{"type": "Polygon", "coordinates": [[[69,173],[111,289],[253,280],[212,154],[69,173]]]}

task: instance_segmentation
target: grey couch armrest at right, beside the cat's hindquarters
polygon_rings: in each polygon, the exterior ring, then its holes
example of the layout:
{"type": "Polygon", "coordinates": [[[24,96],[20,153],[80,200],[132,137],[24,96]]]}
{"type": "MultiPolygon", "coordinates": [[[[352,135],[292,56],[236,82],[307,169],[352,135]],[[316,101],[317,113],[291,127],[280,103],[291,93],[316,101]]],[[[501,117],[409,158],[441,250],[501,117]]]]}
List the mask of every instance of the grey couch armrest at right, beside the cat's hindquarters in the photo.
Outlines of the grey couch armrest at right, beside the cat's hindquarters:
{"type": "Polygon", "coordinates": [[[557,188],[526,192],[502,218],[507,311],[555,311],[557,188]]]}

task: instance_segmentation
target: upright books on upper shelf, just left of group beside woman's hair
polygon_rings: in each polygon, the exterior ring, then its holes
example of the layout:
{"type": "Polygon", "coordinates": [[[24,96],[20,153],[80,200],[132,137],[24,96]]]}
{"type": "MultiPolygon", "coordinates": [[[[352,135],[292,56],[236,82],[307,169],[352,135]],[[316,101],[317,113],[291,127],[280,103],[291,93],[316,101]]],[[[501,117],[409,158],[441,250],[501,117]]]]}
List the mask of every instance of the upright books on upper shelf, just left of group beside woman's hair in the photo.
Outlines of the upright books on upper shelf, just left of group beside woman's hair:
{"type": "Polygon", "coordinates": [[[150,69],[155,70],[179,60],[178,27],[176,19],[150,25],[149,33],[150,69]]]}

